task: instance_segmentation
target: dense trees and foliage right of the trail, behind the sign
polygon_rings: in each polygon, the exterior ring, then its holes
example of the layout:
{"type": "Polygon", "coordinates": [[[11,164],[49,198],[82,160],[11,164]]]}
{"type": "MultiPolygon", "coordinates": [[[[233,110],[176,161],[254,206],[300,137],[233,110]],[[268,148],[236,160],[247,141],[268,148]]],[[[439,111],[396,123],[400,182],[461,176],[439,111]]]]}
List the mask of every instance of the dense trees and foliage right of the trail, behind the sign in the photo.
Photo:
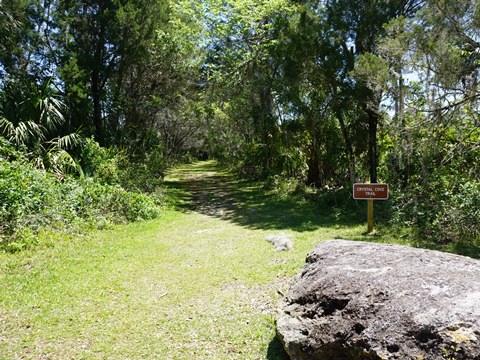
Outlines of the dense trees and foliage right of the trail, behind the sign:
{"type": "Polygon", "coordinates": [[[478,243],[477,2],[212,6],[215,104],[244,164],[327,198],[388,182],[389,224],[437,245],[478,243]]]}

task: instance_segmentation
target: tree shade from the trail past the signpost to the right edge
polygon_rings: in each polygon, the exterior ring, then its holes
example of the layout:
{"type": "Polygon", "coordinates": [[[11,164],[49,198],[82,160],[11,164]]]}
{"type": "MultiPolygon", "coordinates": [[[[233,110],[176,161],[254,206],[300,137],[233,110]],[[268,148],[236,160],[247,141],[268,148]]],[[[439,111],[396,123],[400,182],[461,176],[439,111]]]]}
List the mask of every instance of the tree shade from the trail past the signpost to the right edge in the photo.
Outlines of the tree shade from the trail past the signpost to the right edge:
{"type": "MultiPolygon", "coordinates": [[[[334,206],[335,199],[322,206],[300,195],[279,197],[266,191],[260,183],[235,179],[213,161],[176,169],[175,177],[176,181],[167,178],[165,185],[178,209],[200,212],[251,229],[308,232],[327,227],[345,229],[366,223],[367,205],[363,201],[344,204],[340,210],[334,206]]],[[[418,239],[412,236],[410,229],[403,229],[402,233],[390,227],[389,211],[388,202],[376,202],[377,230],[372,234],[351,236],[350,240],[409,244],[480,259],[480,242],[436,244],[418,239]]]]}

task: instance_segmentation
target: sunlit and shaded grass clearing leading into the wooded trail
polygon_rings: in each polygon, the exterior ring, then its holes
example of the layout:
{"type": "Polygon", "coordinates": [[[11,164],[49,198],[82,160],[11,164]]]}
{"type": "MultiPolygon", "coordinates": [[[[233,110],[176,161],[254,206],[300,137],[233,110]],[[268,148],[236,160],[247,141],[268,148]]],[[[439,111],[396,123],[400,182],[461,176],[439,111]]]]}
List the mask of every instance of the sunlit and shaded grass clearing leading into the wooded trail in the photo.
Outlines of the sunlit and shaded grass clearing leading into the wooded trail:
{"type": "Polygon", "coordinates": [[[392,242],[214,162],[166,185],[159,220],[0,254],[0,359],[283,359],[276,308],[306,254],[329,238],[392,242]],[[280,233],[292,250],[266,241],[280,233]]]}

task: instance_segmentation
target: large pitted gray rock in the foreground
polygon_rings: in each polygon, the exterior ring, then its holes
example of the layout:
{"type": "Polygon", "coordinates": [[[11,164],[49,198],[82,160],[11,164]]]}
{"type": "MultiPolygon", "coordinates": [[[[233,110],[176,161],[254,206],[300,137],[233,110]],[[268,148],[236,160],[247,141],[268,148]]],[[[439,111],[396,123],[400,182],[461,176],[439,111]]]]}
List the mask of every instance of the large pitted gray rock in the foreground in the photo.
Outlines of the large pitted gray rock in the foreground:
{"type": "Polygon", "coordinates": [[[277,319],[292,359],[480,359],[480,262],[329,240],[307,257],[277,319]]]}

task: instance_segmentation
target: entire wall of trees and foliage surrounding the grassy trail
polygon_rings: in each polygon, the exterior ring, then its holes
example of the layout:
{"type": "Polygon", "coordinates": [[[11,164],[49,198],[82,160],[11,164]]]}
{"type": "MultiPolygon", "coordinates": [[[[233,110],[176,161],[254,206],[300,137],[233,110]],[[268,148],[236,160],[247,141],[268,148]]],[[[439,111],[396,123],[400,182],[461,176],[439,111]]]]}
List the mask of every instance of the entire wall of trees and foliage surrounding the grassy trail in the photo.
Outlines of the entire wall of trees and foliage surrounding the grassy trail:
{"type": "Polygon", "coordinates": [[[37,180],[101,212],[214,157],[327,198],[388,182],[391,224],[479,240],[475,0],[18,0],[0,23],[2,181],[50,199],[8,197],[7,233],[65,203],[37,180]]]}

